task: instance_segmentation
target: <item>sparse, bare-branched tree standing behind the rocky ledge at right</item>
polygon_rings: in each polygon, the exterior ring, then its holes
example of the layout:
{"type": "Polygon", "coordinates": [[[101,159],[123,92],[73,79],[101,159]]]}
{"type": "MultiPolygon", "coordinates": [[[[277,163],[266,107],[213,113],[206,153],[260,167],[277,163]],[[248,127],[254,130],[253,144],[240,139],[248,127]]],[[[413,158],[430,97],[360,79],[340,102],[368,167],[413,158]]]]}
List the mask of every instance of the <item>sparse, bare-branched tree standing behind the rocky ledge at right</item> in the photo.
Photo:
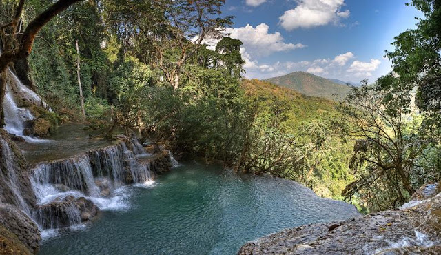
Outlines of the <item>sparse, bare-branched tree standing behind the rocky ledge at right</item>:
{"type": "Polygon", "coordinates": [[[356,181],[347,185],[343,195],[369,194],[380,210],[401,205],[415,192],[420,184],[416,161],[429,144],[418,130],[409,130],[407,109],[395,106],[391,111],[391,105],[384,104],[384,94],[366,83],[353,88],[342,104],[345,133],[357,139],[349,163],[356,181]]]}

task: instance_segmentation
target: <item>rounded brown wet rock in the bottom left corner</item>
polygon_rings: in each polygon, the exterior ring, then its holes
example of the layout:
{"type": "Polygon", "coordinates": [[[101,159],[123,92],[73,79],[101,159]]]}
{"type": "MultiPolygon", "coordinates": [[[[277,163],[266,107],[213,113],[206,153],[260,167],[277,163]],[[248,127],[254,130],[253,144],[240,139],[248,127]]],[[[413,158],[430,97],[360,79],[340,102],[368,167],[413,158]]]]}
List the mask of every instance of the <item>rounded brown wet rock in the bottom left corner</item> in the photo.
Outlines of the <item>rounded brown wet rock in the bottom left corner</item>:
{"type": "MultiPolygon", "coordinates": [[[[23,252],[22,248],[25,247],[28,253],[37,253],[40,241],[40,232],[34,221],[17,207],[0,203],[0,251],[14,249],[23,252]],[[3,228],[8,232],[2,231],[3,228]],[[14,248],[4,245],[14,245],[14,248]]],[[[12,254],[20,254],[20,252],[12,254]]]]}

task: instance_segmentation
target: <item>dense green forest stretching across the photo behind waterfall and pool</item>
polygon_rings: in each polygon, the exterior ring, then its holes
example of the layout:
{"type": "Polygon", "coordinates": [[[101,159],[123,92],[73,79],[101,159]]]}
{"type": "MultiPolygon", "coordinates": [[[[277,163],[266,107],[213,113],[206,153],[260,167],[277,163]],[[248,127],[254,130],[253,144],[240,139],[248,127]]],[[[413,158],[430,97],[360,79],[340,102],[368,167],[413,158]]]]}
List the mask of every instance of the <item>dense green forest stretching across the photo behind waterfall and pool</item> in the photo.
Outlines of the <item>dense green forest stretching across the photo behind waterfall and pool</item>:
{"type": "Polygon", "coordinates": [[[344,100],[244,79],[242,42],[222,29],[232,25],[225,0],[65,2],[32,54],[9,63],[58,2],[0,0],[1,66],[50,105],[53,125],[85,121],[107,139],[139,132],[182,158],[293,179],[371,212],[440,179],[439,0],[412,1],[424,17],[387,52],[393,70],[344,100]]]}

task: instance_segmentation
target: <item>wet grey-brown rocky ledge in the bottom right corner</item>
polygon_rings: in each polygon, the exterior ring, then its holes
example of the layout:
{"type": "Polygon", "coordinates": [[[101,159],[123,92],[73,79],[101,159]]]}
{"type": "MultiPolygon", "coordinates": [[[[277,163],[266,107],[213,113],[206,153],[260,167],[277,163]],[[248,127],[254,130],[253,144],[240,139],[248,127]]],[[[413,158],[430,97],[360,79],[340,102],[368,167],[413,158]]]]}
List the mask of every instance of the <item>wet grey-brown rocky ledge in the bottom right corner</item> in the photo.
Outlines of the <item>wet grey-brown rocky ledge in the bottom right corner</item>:
{"type": "Polygon", "coordinates": [[[441,193],[424,185],[401,210],[283,230],[238,254],[441,254],[441,193]]]}

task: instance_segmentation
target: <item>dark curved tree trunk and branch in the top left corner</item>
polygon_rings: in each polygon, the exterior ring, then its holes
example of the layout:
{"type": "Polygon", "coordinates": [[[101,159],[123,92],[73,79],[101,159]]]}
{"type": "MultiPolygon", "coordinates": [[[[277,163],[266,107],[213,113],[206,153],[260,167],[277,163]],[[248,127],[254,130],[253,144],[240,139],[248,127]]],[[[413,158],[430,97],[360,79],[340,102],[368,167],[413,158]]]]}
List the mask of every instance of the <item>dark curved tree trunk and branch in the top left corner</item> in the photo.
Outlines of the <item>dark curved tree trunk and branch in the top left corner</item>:
{"type": "MultiPolygon", "coordinates": [[[[12,21],[0,26],[0,36],[3,42],[3,52],[0,55],[0,105],[3,105],[6,92],[6,74],[9,64],[14,61],[26,59],[30,55],[30,52],[32,52],[34,39],[41,28],[60,12],[63,12],[63,10],[79,1],[81,0],[59,0],[53,3],[34,20],[30,21],[23,34],[21,34],[19,26],[21,26],[21,15],[23,13],[25,0],[20,0],[12,21]],[[5,32],[7,28],[10,31],[9,34],[5,32]]],[[[3,128],[3,108],[0,110],[0,115],[0,127],[3,128]]]]}

